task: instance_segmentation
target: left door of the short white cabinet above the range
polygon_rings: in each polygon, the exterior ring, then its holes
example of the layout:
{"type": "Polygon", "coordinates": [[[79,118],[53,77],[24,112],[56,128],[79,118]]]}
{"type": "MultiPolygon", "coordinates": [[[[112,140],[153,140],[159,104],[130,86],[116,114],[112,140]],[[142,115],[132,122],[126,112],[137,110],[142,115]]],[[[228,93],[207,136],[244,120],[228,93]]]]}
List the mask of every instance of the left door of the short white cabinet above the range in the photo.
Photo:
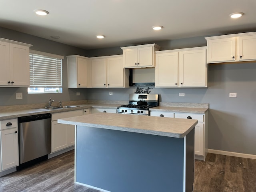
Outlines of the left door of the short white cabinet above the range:
{"type": "Polygon", "coordinates": [[[138,55],[137,48],[123,50],[124,67],[126,67],[126,68],[136,67],[137,66],[137,60],[138,60],[137,55],[138,55]]]}

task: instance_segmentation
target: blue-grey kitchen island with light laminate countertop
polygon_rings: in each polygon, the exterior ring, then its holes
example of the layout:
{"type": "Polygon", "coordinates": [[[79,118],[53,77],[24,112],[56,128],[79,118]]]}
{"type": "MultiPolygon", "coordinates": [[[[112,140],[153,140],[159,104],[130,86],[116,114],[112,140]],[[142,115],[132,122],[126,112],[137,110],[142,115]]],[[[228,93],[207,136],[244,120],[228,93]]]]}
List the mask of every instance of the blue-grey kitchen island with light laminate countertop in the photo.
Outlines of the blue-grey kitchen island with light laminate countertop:
{"type": "Polygon", "coordinates": [[[110,192],[191,192],[197,120],[95,113],[76,125],[75,182],[110,192]]]}

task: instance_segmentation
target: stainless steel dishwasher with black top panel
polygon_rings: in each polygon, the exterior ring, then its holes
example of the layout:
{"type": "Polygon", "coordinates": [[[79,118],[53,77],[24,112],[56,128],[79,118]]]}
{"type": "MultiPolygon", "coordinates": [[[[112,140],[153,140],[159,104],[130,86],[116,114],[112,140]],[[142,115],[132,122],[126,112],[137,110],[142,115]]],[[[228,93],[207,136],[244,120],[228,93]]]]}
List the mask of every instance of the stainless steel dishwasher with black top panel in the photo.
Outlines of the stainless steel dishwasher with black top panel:
{"type": "Polygon", "coordinates": [[[22,169],[48,159],[51,152],[52,114],[40,114],[18,118],[19,158],[22,169]]]}

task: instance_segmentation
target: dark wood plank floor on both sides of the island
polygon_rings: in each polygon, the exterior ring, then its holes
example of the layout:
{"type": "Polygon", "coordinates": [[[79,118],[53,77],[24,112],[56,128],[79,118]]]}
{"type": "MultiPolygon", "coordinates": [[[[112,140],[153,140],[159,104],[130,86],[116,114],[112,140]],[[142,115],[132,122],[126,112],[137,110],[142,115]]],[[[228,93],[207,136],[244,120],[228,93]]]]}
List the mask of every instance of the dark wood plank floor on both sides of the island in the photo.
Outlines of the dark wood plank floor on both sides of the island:
{"type": "MultiPolygon", "coordinates": [[[[100,192],[74,184],[74,150],[0,177],[0,192],[100,192]]],[[[194,192],[256,192],[256,160],[208,154],[195,161],[194,192]]]]}

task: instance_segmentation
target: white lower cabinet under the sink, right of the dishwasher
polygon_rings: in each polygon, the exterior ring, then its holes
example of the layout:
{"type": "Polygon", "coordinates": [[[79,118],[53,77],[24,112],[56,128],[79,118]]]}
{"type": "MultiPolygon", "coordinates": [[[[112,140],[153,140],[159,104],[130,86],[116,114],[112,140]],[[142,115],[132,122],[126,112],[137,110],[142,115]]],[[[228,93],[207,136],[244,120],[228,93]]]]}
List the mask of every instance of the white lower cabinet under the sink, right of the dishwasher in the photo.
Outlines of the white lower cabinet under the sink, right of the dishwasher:
{"type": "Polygon", "coordinates": [[[62,118],[81,116],[83,114],[84,110],[52,114],[51,153],[73,146],[75,142],[75,126],[60,124],[57,122],[57,120],[62,118]]]}

